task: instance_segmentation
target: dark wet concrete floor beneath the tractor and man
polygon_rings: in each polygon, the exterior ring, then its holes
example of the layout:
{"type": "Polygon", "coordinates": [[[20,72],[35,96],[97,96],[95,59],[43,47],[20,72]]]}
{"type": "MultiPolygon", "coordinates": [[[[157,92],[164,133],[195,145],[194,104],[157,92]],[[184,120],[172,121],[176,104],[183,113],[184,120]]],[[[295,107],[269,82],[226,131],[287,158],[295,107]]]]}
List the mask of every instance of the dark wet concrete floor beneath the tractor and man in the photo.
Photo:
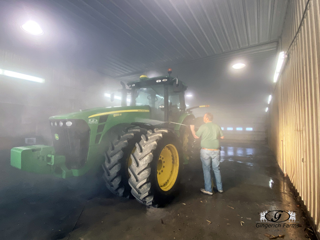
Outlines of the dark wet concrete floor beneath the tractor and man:
{"type": "Polygon", "coordinates": [[[199,191],[203,173],[198,160],[185,169],[181,194],[165,208],[155,209],[114,197],[95,180],[84,184],[13,169],[4,152],[0,239],[267,240],[264,234],[305,239],[309,225],[266,146],[225,144],[221,156],[223,194],[199,191]],[[295,211],[301,227],[256,228],[264,210],[295,211]]]}

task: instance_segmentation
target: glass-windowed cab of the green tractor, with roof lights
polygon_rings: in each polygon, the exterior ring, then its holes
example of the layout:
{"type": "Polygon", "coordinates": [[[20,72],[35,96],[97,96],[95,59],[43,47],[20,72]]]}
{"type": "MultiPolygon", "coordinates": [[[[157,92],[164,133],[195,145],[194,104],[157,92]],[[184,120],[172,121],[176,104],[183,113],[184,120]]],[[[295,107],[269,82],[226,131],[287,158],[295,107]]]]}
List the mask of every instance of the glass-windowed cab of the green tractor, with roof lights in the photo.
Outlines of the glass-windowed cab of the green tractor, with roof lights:
{"type": "Polygon", "coordinates": [[[148,105],[153,120],[176,122],[182,113],[186,112],[187,86],[177,78],[148,78],[142,75],[139,81],[129,82],[127,86],[131,89],[130,105],[148,105]]]}

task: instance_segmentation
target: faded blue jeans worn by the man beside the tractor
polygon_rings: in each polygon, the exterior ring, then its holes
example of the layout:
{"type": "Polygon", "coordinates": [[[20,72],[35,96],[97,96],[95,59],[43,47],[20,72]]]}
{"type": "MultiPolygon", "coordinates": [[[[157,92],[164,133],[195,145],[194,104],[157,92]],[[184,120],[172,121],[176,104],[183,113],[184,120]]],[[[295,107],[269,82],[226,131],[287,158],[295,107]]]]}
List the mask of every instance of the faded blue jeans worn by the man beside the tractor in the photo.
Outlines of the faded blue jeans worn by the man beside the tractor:
{"type": "Polygon", "coordinates": [[[215,173],[216,184],[218,190],[222,189],[222,180],[220,174],[220,150],[212,151],[212,150],[204,150],[200,151],[200,158],[202,162],[203,176],[204,176],[204,187],[206,191],[212,192],[211,186],[211,173],[210,166],[212,164],[212,170],[215,173]]]}

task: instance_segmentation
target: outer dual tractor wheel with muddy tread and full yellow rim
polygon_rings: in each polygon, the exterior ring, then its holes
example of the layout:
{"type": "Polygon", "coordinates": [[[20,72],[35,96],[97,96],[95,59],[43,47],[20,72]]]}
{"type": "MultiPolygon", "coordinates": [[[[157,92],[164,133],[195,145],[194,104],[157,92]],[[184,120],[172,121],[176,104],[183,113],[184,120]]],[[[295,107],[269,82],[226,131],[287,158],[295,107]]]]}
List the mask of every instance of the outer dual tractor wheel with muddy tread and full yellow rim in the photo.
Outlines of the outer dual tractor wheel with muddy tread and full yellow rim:
{"type": "Polygon", "coordinates": [[[131,154],[131,194],[146,206],[168,203],[178,192],[183,166],[180,141],[167,129],[149,130],[131,154]]]}

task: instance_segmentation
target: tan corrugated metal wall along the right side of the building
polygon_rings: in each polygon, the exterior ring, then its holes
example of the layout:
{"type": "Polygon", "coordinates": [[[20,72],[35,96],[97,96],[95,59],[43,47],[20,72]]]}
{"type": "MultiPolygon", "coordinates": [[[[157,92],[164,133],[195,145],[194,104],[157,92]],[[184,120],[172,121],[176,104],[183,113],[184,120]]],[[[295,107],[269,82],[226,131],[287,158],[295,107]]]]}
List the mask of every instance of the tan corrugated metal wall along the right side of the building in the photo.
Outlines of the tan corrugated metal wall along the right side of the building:
{"type": "MultiPolygon", "coordinates": [[[[307,0],[291,0],[281,37],[287,51],[307,0]]],[[[288,52],[270,111],[269,144],[320,231],[320,1],[311,0],[288,52]]]]}

